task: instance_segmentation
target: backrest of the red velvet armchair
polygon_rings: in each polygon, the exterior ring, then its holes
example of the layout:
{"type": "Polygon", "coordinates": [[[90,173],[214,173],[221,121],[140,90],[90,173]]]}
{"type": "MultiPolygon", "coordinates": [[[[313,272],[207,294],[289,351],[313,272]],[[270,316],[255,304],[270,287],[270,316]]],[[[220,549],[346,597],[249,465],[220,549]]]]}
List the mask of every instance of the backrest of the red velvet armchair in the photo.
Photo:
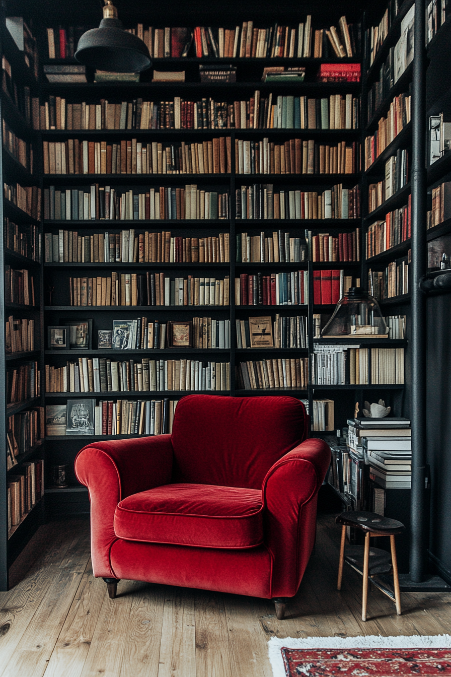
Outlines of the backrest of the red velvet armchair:
{"type": "Polygon", "coordinates": [[[269,468],[306,439],[294,397],[187,395],[172,426],[172,481],[261,489],[269,468]]]}

